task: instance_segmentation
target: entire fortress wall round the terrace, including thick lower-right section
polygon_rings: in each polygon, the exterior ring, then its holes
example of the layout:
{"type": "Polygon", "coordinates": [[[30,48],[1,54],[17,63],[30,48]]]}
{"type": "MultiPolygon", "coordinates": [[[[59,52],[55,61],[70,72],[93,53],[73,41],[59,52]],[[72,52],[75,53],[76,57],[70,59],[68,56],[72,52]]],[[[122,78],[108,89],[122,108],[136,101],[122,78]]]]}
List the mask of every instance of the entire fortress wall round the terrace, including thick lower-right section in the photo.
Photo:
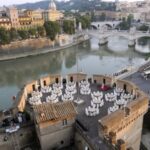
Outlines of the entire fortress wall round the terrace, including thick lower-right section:
{"type": "MultiPolygon", "coordinates": [[[[39,85],[42,87],[55,82],[67,82],[71,80],[79,82],[83,79],[88,79],[90,82],[97,84],[105,83],[106,85],[116,86],[135,95],[136,100],[128,103],[126,108],[119,109],[99,120],[99,136],[112,147],[117,147],[121,150],[128,148],[138,150],[141,141],[143,116],[148,110],[148,98],[137,86],[128,81],[116,80],[115,78],[104,75],[88,77],[83,73],[69,74],[66,77],[48,75],[24,86],[18,97],[18,101],[14,104],[14,108],[17,109],[14,110],[24,111],[27,95],[38,89],[39,85]]],[[[83,138],[82,133],[76,133],[76,136],[81,138],[80,147],[89,145],[87,140],[83,138]]]]}

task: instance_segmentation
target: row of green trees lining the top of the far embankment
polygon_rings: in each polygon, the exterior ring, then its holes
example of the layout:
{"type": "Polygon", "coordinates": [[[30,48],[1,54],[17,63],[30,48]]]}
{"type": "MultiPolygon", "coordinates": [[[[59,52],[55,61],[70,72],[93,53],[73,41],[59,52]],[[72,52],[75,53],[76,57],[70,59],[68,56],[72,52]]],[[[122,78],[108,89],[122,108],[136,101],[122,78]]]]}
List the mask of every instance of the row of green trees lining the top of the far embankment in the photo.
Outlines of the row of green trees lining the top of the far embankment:
{"type": "Polygon", "coordinates": [[[9,44],[11,41],[24,40],[29,38],[38,37],[49,37],[52,41],[55,40],[56,35],[60,33],[74,34],[75,28],[78,26],[79,22],[82,23],[82,28],[90,27],[90,17],[89,16],[76,16],[77,24],[73,20],[64,20],[62,23],[47,21],[43,26],[33,27],[29,29],[15,29],[11,28],[6,30],[5,28],[0,28],[0,44],[9,44]]]}

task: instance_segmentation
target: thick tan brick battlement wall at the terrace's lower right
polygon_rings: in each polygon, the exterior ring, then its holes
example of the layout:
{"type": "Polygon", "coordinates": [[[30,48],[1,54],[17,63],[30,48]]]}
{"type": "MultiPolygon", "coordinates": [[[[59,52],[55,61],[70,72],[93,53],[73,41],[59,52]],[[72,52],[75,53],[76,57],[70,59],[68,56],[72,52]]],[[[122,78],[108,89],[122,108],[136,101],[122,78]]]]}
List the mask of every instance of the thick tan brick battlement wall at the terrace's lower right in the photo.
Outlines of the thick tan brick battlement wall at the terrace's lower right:
{"type": "Polygon", "coordinates": [[[148,110],[148,98],[139,92],[139,97],[130,102],[124,109],[99,120],[99,136],[110,141],[119,149],[139,149],[143,116],[148,110]],[[122,140],[122,144],[118,144],[122,140]]]}

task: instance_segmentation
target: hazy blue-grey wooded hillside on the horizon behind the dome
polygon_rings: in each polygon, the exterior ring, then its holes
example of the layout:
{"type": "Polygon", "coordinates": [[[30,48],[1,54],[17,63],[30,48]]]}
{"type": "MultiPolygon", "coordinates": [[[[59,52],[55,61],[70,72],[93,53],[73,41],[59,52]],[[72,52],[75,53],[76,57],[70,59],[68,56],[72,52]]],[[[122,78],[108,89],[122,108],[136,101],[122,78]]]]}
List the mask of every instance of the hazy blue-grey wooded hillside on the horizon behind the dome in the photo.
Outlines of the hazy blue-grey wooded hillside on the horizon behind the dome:
{"type": "MultiPolygon", "coordinates": [[[[39,1],[36,3],[25,3],[21,5],[17,5],[18,8],[21,9],[47,9],[49,5],[49,0],[39,1]]],[[[70,0],[68,2],[58,2],[55,1],[57,8],[59,10],[79,10],[79,11],[90,11],[90,10],[115,10],[114,3],[105,3],[101,2],[101,0],[70,0]]]]}

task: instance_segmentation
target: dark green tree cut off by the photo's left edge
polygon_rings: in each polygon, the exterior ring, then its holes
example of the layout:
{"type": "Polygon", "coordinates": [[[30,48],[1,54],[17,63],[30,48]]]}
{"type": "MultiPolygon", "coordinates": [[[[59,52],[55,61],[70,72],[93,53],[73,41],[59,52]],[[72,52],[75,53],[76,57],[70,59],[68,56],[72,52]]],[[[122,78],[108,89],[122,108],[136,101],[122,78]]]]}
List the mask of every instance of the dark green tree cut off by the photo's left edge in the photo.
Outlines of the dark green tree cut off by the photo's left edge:
{"type": "Polygon", "coordinates": [[[8,30],[1,27],[0,28],[0,44],[9,44],[10,43],[10,34],[8,30]]]}

